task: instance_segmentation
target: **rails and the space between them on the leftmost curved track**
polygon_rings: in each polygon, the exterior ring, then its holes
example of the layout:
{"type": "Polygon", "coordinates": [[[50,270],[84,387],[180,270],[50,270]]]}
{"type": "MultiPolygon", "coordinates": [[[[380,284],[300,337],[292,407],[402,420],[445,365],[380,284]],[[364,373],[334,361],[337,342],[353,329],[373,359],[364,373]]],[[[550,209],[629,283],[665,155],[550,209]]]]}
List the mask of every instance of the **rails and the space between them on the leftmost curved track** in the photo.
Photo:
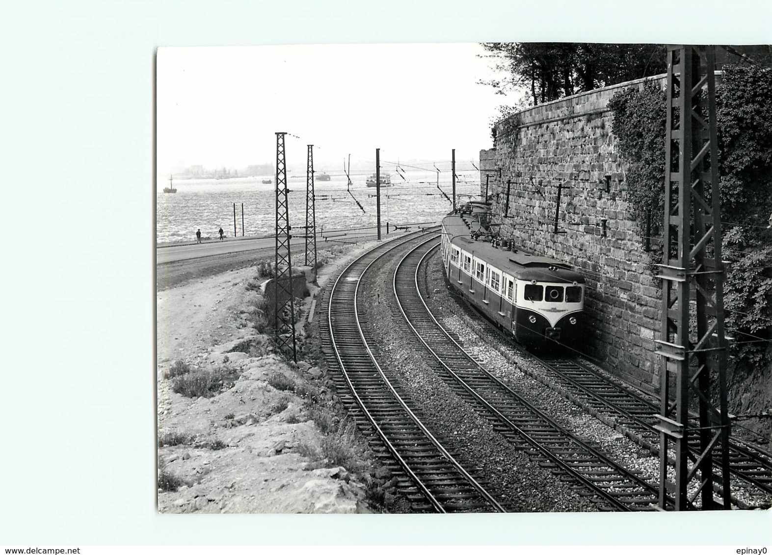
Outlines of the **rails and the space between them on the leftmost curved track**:
{"type": "Polygon", "coordinates": [[[485,506],[504,512],[398,395],[378,365],[361,326],[358,294],[365,272],[388,252],[415,240],[411,237],[392,247],[376,247],[341,272],[330,291],[327,312],[334,354],[375,433],[435,510],[445,513],[485,506]]]}

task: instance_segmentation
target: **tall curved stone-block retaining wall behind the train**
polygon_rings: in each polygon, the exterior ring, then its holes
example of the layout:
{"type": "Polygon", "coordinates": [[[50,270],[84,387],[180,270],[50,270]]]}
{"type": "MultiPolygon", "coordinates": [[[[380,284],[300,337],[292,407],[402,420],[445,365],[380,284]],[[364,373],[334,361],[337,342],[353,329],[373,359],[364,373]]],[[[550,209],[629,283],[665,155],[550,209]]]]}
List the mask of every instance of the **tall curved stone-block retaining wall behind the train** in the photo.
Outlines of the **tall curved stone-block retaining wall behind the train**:
{"type": "MultiPolygon", "coordinates": [[[[664,86],[663,77],[651,79],[664,86]]],[[[654,390],[661,292],[629,215],[625,167],[608,109],[618,90],[642,87],[645,80],[559,99],[499,122],[496,148],[480,152],[480,183],[484,193],[488,177],[505,237],[572,264],[587,278],[584,352],[628,382],[654,390]]]]}

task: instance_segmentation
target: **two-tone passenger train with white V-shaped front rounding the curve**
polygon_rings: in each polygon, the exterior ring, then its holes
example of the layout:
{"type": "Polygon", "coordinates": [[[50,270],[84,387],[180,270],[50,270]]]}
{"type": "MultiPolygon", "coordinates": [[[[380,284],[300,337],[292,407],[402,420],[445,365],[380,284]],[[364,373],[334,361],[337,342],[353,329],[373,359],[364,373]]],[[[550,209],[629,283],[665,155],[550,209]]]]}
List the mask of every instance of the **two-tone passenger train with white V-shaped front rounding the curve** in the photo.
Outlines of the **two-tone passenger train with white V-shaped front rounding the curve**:
{"type": "Polygon", "coordinates": [[[442,220],[442,261],[453,288],[527,346],[576,344],[584,278],[554,258],[498,237],[490,205],[472,201],[442,220]]]}

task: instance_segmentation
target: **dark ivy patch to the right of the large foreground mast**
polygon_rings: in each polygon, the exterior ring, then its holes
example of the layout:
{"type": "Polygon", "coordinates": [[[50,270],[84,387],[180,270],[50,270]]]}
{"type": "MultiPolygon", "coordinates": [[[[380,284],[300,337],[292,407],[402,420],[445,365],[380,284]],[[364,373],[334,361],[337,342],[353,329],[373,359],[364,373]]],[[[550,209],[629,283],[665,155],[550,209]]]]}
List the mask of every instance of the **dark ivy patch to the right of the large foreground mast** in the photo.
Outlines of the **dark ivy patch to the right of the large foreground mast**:
{"type": "Polygon", "coordinates": [[[728,66],[716,87],[727,328],[750,368],[772,331],[772,69],[728,66]]]}

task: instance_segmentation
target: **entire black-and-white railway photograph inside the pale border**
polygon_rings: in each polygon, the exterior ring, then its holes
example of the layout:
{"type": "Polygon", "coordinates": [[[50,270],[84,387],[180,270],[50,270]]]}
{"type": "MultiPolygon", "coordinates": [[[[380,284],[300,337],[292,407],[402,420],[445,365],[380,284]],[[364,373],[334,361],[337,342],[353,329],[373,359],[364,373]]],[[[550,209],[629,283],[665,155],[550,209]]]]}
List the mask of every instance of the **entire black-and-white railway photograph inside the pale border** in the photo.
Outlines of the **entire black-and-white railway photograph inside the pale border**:
{"type": "Polygon", "coordinates": [[[158,510],[768,510],[770,68],[159,49],[158,510]]]}

